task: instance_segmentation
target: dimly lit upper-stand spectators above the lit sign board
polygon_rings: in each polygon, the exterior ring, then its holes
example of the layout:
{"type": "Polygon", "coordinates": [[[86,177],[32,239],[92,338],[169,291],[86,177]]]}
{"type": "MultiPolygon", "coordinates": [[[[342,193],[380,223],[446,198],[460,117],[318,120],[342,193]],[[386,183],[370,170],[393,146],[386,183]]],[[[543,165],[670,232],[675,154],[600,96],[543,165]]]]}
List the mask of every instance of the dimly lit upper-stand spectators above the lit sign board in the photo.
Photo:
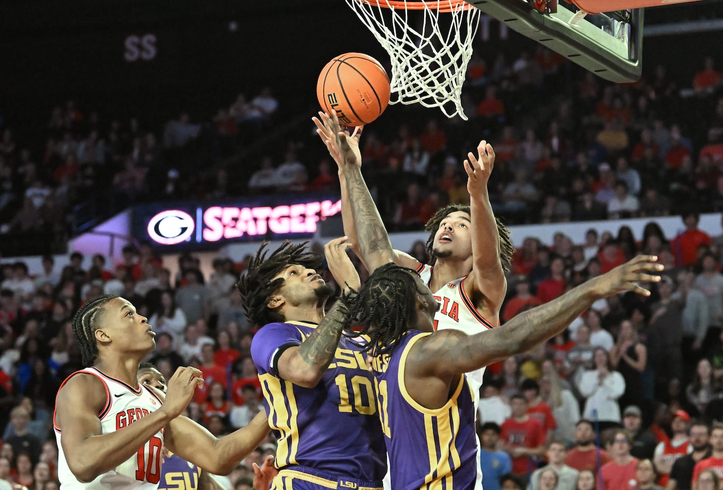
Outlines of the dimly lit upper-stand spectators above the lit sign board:
{"type": "MultiPolygon", "coordinates": [[[[703,56],[679,87],[664,66],[614,85],[542,47],[516,59],[475,55],[463,93],[470,121],[390,108],[364,133],[365,175],[396,230],[466,199],[461,158],[482,137],[497,153],[490,192],[507,223],[723,210],[722,87],[714,59],[703,56]]],[[[154,129],[142,114],[104,119],[70,100],[51,111],[43,143],[1,127],[4,242],[50,234],[56,239],[20,243],[64,244],[68,211],[88,199],[108,212],[147,200],[336,189],[311,124],[282,132],[273,124],[279,107],[263,87],[213,117],[181,113],[154,129]]]]}

